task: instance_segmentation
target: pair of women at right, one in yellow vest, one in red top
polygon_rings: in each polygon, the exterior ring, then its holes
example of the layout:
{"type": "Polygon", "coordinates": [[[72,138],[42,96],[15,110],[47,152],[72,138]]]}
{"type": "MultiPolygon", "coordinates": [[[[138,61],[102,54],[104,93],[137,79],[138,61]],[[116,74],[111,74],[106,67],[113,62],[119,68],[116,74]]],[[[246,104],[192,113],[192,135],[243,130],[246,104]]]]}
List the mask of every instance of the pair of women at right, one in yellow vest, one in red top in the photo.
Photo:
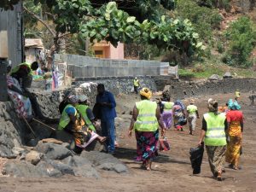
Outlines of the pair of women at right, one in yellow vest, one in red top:
{"type": "Polygon", "coordinates": [[[218,102],[209,99],[208,109],[209,112],[203,115],[199,145],[206,145],[213,177],[222,181],[225,161],[230,163],[230,168],[239,169],[243,114],[237,99],[230,99],[223,113],[218,112],[218,102]]]}

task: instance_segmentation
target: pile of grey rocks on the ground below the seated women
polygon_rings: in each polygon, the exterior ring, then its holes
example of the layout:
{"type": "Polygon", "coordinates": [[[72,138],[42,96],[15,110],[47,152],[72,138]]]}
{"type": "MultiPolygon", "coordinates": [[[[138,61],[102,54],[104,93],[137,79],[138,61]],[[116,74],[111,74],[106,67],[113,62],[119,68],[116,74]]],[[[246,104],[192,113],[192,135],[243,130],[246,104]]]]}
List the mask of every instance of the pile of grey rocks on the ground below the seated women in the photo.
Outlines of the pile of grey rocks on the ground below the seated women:
{"type": "Polygon", "coordinates": [[[81,177],[101,177],[101,171],[129,173],[125,164],[98,151],[74,154],[68,143],[43,143],[35,148],[15,148],[17,158],[8,160],[2,174],[12,177],[61,177],[69,174],[81,177]]]}

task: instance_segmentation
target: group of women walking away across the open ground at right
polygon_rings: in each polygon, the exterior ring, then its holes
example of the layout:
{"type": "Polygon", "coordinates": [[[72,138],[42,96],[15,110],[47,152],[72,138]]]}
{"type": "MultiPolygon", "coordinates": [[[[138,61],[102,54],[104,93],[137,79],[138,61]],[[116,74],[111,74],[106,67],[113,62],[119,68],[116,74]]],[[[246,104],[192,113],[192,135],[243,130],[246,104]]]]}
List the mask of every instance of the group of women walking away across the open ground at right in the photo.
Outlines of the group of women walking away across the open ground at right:
{"type": "MultiPolygon", "coordinates": [[[[148,88],[140,90],[141,102],[136,102],[128,136],[131,137],[135,130],[137,140],[137,161],[143,161],[142,168],[151,170],[152,160],[158,155],[159,134],[165,135],[166,130],[172,126],[182,127],[182,119],[189,119],[189,131],[193,134],[195,130],[195,119],[199,119],[195,100],[189,101],[186,108],[181,101],[171,102],[170,97],[166,101],[160,101],[160,105],[150,100],[152,92],[148,88]],[[163,107],[162,113],[160,106],[163,107]],[[159,129],[161,130],[159,132],[159,129]]],[[[241,155],[241,138],[243,131],[243,114],[241,106],[236,99],[227,103],[227,108],[219,112],[218,102],[214,99],[208,100],[208,113],[202,118],[201,137],[199,145],[205,144],[209,165],[213,177],[222,180],[224,162],[230,163],[229,167],[238,170],[241,155]]]]}

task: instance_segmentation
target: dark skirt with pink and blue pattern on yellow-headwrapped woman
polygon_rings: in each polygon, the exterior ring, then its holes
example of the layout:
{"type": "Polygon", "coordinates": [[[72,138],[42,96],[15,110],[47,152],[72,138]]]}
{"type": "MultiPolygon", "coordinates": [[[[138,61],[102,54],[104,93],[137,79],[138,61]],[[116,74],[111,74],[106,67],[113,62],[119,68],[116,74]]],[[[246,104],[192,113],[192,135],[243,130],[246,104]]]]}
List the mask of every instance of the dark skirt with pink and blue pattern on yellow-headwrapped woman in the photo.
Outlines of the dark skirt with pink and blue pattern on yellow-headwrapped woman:
{"type": "Polygon", "coordinates": [[[148,159],[153,160],[158,155],[159,130],[135,131],[135,135],[137,139],[137,159],[143,160],[143,164],[148,159]]]}

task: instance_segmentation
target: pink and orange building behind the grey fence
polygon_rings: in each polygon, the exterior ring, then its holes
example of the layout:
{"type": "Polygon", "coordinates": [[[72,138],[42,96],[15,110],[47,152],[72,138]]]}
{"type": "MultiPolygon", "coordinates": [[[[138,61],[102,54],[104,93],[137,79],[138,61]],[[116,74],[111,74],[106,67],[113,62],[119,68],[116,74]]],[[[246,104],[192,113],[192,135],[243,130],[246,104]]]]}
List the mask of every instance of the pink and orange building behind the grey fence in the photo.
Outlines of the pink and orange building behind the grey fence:
{"type": "Polygon", "coordinates": [[[117,48],[107,41],[96,43],[92,47],[95,56],[98,58],[124,59],[124,44],[119,43],[117,48]]]}

